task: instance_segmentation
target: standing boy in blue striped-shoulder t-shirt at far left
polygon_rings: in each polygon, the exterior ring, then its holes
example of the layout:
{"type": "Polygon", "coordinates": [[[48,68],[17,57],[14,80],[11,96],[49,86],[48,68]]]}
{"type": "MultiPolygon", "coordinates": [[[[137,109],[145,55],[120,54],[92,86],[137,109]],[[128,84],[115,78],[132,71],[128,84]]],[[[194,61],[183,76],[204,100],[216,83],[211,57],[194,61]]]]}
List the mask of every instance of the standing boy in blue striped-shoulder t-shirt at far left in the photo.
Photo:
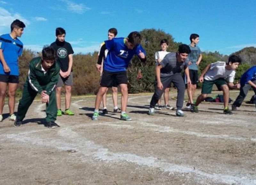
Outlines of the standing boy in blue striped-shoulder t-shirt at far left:
{"type": "Polygon", "coordinates": [[[17,38],[23,34],[25,24],[16,19],[11,24],[11,33],[0,36],[0,121],[3,120],[4,97],[8,85],[9,120],[15,121],[15,93],[19,83],[18,58],[22,54],[23,43],[17,38]]]}

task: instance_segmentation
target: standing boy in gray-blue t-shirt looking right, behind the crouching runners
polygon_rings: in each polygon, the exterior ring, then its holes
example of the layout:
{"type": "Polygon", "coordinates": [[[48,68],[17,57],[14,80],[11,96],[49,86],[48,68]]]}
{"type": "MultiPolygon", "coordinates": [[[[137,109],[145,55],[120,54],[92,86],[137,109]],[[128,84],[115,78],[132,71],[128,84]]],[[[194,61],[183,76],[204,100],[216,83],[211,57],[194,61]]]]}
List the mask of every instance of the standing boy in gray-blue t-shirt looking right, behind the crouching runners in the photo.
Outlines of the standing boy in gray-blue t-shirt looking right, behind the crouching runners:
{"type": "MultiPolygon", "coordinates": [[[[198,34],[191,34],[190,37],[190,44],[189,48],[191,50],[191,53],[188,55],[188,69],[189,69],[189,76],[191,80],[191,85],[188,86],[188,103],[186,104],[186,108],[190,109],[191,104],[193,104],[193,96],[196,91],[196,84],[198,82],[198,76],[197,76],[197,71],[198,71],[198,65],[200,64],[202,60],[202,52],[200,48],[197,46],[199,42],[199,35],[198,34]]],[[[185,83],[187,81],[186,75],[185,75],[185,83]]]]}

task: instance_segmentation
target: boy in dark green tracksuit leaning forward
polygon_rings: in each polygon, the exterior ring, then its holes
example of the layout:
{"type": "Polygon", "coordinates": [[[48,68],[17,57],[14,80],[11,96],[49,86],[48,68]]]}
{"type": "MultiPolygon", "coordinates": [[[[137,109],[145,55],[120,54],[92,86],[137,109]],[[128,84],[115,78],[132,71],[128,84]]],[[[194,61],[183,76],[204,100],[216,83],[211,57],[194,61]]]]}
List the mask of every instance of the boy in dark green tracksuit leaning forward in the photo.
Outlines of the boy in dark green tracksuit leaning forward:
{"type": "Polygon", "coordinates": [[[18,106],[15,127],[22,124],[22,120],[32,104],[37,93],[41,95],[42,103],[46,103],[47,127],[59,127],[54,121],[57,117],[55,86],[59,79],[60,66],[55,62],[56,55],[52,47],[44,47],[42,58],[33,58],[29,64],[28,76],[23,86],[23,93],[18,106]]]}

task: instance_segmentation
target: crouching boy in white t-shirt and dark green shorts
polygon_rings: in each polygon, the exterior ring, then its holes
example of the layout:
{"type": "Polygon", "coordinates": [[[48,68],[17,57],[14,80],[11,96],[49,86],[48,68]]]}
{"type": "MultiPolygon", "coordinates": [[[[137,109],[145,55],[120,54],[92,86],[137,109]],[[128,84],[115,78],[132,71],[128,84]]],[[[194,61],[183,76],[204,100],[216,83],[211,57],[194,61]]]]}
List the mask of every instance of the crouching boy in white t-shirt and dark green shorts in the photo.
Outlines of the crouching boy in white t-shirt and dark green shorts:
{"type": "Polygon", "coordinates": [[[240,84],[234,84],[234,78],[238,64],[241,59],[236,55],[231,55],[228,58],[228,63],[215,62],[205,67],[204,71],[199,77],[199,81],[203,82],[201,95],[196,99],[196,104],[191,107],[191,112],[198,112],[198,105],[204,101],[208,94],[212,93],[212,86],[215,84],[218,90],[223,91],[224,97],[224,114],[233,114],[228,109],[229,88],[239,89],[240,84]],[[227,82],[228,83],[227,83],[227,82]]]}

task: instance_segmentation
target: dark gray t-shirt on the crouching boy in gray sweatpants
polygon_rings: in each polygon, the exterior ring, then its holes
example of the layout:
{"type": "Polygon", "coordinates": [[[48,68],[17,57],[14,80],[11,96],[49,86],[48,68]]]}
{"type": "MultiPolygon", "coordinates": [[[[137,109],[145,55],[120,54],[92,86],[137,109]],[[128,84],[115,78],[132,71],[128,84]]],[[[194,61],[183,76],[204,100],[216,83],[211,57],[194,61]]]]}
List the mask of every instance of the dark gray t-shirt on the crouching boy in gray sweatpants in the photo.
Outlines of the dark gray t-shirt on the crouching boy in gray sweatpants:
{"type": "Polygon", "coordinates": [[[177,53],[168,53],[159,63],[159,65],[163,66],[160,77],[172,76],[175,73],[181,73],[184,66],[188,66],[188,58],[184,62],[178,62],[176,54],[177,53]]]}

